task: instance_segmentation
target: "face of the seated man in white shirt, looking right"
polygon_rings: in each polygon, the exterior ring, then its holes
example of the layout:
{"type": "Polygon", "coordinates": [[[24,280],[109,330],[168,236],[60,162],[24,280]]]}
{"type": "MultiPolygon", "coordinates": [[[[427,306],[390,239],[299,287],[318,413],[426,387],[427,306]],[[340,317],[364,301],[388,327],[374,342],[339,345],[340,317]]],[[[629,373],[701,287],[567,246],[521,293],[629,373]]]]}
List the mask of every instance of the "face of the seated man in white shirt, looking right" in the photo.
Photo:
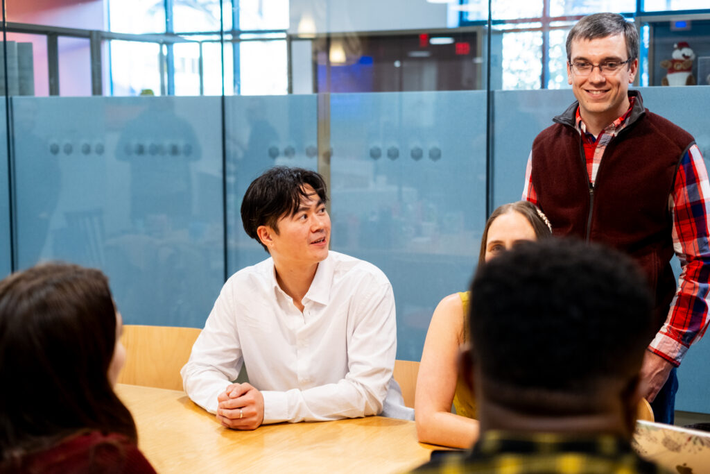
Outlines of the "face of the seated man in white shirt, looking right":
{"type": "Polygon", "coordinates": [[[304,190],[307,198],[302,198],[295,214],[280,217],[276,229],[268,225],[257,229],[259,239],[279,266],[311,266],[328,257],[330,217],[325,203],[310,185],[304,190]]]}

